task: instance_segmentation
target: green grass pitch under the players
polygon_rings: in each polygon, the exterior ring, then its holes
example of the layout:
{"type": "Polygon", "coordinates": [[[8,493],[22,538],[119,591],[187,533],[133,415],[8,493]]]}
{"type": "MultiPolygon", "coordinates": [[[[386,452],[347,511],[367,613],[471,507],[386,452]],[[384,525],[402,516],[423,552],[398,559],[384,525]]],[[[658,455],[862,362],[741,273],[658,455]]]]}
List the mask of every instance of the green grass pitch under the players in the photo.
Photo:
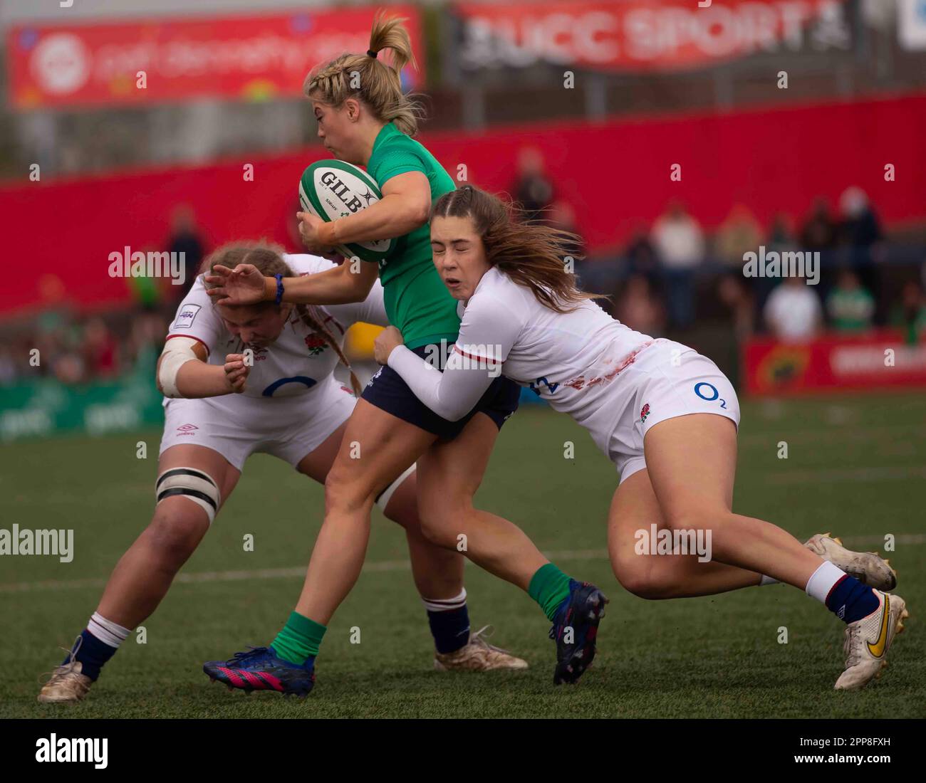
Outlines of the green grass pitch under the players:
{"type": "MultiPolygon", "coordinates": [[[[736,510],[806,537],[832,529],[878,548],[885,533],[926,533],[926,399],[840,397],[745,404],[736,510]],[[789,458],[777,458],[787,441],[789,458]]],[[[0,559],[0,717],[904,717],[922,715],[926,543],[898,542],[892,563],[913,615],[884,677],[837,693],[842,624],[798,590],[775,586],[720,596],[648,602],[622,590],[605,556],[610,463],[566,416],[522,409],[507,424],[480,491],[483,507],[517,521],[569,573],[610,596],[594,669],[577,688],[551,684],[553,643],[524,594],[467,569],[474,627],[518,652],[527,672],[439,674],[399,528],[377,512],[369,564],[332,620],[316,690],[304,702],[246,697],[210,686],[201,663],[282,626],[301,576],[177,583],[131,636],[86,702],[35,701],[39,676],[59,663],[98,601],[102,580],[147,524],[160,433],[62,438],[0,448],[0,527],[74,528],[75,557],[0,559]],[[135,458],[147,441],[148,460],[135,458]],[[575,441],[575,459],[563,442],[575,441]],[[592,552],[589,552],[592,551],[592,552]],[[558,554],[557,554],[558,553],[558,554]],[[67,584],[37,586],[40,582],[67,584]],[[76,584],[75,584],[76,582],[76,584]],[[11,586],[31,583],[27,590],[11,586]],[[350,629],[361,629],[351,644],[350,629]],[[789,642],[778,643],[778,628],[789,642]]],[[[292,568],[308,561],[322,515],[321,488],[264,455],[252,458],[185,574],[292,568]],[[255,551],[244,552],[245,533],[255,551]]]]}

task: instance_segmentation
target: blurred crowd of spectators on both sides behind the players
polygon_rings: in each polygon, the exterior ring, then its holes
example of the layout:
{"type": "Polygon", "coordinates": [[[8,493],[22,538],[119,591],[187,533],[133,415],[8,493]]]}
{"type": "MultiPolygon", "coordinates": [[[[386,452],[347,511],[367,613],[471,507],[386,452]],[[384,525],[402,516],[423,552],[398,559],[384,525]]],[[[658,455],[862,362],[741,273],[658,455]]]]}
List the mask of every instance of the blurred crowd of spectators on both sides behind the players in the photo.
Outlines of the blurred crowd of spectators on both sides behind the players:
{"type": "MultiPolygon", "coordinates": [[[[747,205],[732,205],[712,234],[681,201],[666,206],[652,225],[634,226],[615,253],[586,255],[575,209],[557,193],[544,158],[525,147],[510,188],[520,217],[576,234],[570,250],[586,291],[600,293],[609,312],[632,329],[685,342],[698,324],[720,322],[736,342],[753,334],[807,341],[824,331],[904,330],[908,342],[926,340],[926,276],[921,246],[899,258],[865,193],[850,187],[838,204],[820,198],[803,218],[784,213],[764,227],[747,205]],[[766,251],[820,253],[820,282],[744,275],[744,255],[766,251]]],[[[295,212],[287,211],[288,249],[300,248],[295,212]]],[[[56,278],[41,281],[44,310],[7,324],[0,344],[0,385],[55,378],[67,385],[116,379],[137,372],[153,377],[157,355],[177,305],[211,250],[193,209],[178,205],[162,248],[183,253],[185,283],[131,279],[134,305],[106,314],[82,314],[69,305],[56,278]],[[34,354],[34,349],[38,354],[34,354]]],[[[909,250],[909,248],[907,248],[909,250]]]]}

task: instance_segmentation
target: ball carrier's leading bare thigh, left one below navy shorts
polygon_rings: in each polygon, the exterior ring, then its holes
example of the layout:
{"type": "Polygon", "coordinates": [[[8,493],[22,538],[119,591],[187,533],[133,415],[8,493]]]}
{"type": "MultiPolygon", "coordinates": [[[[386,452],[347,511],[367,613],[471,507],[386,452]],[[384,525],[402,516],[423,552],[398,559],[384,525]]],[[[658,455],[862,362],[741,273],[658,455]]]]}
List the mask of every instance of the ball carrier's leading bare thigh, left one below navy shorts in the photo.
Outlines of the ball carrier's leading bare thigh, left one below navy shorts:
{"type": "Polygon", "coordinates": [[[432,433],[357,400],[325,480],[326,503],[371,505],[435,440],[432,433]]]}

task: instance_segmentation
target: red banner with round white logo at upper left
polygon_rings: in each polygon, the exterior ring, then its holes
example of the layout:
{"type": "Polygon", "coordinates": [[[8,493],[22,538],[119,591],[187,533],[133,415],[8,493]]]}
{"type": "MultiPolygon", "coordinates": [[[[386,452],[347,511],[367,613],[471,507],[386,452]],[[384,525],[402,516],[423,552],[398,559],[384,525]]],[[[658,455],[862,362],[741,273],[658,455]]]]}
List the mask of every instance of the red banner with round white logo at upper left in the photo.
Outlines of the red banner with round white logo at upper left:
{"type": "MultiPolygon", "coordinates": [[[[360,6],[14,27],[6,39],[10,101],[30,109],[204,96],[251,101],[298,96],[314,66],[344,52],[367,51],[376,11],[376,6],[360,6]]],[[[415,58],[423,68],[418,9],[390,6],[390,11],[407,19],[415,58]]],[[[407,89],[419,88],[423,72],[405,68],[403,82],[407,89]]]]}

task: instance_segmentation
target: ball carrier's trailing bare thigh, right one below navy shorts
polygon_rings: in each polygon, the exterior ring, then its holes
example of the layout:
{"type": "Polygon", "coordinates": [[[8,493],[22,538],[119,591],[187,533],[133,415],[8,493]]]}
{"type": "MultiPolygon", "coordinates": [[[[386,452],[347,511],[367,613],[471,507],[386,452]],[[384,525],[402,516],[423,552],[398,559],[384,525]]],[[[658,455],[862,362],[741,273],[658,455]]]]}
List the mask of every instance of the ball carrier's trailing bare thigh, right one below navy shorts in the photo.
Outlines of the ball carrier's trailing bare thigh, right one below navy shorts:
{"type": "Polygon", "coordinates": [[[452,441],[436,442],[418,461],[418,510],[421,524],[450,523],[465,513],[482,484],[498,426],[477,413],[452,441]]]}

